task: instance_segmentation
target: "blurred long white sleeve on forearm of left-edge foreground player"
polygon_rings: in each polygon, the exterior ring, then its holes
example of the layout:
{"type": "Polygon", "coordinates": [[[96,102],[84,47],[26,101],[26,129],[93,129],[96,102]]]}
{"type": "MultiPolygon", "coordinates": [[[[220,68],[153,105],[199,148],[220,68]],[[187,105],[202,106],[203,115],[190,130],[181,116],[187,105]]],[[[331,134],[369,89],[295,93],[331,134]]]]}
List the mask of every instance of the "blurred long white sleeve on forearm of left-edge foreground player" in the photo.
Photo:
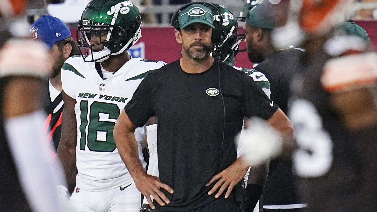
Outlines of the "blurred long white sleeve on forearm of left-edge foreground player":
{"type": "MultiPolygon", "coordinates": [[[[18,58],[23,57],[20,55],[18,58]]],[[[33,211],[66,212],[68,210],[64,209],[64,202],[55,190],[55,185],[65,184],[66,180],[60,163],[50,163],[49,149],[42,129],[45,118],[43,111],[7,118],[4,126],[9,149],[17,168],[20,186],[33,211]]]]}

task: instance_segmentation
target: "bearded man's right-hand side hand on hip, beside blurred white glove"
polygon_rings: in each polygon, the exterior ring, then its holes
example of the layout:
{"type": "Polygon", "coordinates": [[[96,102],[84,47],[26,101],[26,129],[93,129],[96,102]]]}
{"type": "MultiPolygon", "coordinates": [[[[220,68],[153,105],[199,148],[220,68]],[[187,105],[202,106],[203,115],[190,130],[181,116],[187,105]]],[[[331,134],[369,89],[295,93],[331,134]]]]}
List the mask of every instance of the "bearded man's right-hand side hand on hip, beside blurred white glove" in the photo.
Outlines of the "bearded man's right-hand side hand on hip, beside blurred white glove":
{"type": "Polygon", "coordinates": [[[249,167],[244,163],[242,158],[238,158],[233,164],[231,164],[231,166],[215,175],[207,184],[205,184],[205,186],[209,186],[218,180],[215,186],[213,186],[208,192],[208,195],[213,194],[220,187],[219,192],[217,192],[215,195],[215,198],[218,198],[225,191],[225,189],[228,188],[227,192],[225,193],[225,198],[228,198],[233,190],[233,187],[245,177],[248,168],[249,167]]]}

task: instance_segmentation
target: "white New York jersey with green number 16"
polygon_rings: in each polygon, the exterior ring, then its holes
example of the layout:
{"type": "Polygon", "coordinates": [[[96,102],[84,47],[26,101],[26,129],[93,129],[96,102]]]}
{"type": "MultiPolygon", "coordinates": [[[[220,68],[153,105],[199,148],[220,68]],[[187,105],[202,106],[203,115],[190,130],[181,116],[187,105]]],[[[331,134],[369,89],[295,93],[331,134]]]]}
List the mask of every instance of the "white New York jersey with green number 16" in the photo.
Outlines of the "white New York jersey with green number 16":
{"type": "MultiPolygon", "coordinates": [[[[131,100],[147,72],[164,65],[161,61],[131,58],[109,78],[103,79],[95,62],[84,62],[81,56],[68,58],[64,63],[61,70],[63,90],[76,99],[77,187],[103,191],[132,181],[115,146],[113,128],[120,111],[131,100]]],[[[135,130],[135,137],[139,158],[145,167],[141,153],[145,126],[135,130]]]]}

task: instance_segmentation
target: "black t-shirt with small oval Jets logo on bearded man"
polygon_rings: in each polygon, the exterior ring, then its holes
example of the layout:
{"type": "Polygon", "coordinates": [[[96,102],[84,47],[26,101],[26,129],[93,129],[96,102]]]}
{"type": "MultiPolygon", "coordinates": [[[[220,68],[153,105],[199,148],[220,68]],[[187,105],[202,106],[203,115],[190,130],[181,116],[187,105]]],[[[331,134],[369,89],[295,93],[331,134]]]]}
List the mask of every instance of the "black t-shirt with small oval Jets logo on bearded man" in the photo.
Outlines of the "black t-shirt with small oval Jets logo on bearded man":
{"type": "Polygon", "coordinates": [[[267,120],[278,108],[251,77],[222,62],[219,69],[221,89],[217,60],[199,74],[184,72],[177,60],[150,71],[125,107],[138,127],[158,117],[159,177],[174,194],[162,190],[171,203],[156,210],[187,211],[215,200],[207,194],[213,185],[205,184],[236,160],[234,137],[244,117],[267,120]]]}

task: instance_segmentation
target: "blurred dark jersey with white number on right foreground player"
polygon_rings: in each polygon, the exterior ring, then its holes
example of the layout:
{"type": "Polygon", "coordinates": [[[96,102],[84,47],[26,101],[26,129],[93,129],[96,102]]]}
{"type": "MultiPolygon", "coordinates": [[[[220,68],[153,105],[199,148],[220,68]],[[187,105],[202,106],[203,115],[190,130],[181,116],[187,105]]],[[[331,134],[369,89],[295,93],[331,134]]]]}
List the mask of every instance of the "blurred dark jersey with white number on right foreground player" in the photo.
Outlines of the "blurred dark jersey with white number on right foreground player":
{"type": "Polygon", "coordinates": [[[310,212],[376,211],[377,130],[345,128],[320,82],[329,58],[320,51],[295,77],[289,113],[300,146],[294,157],[299,190],[310,212]]]}

